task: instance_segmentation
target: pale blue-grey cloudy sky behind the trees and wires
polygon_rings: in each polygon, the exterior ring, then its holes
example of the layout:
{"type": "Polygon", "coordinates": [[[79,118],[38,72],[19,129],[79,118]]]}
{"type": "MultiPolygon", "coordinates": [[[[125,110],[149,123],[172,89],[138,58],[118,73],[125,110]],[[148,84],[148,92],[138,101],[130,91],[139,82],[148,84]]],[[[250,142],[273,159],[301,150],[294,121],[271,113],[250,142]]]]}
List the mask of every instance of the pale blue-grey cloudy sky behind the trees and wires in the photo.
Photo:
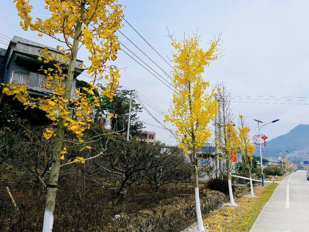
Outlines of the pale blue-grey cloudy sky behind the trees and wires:
{"type": "MultiPolygon", "coordinates": [[[[309,98],[280,98],[280,97],[309,97],[308,86],[308,22],[309,1],[128,1],[119,0],[126,5],[125,19],[152,45],[164,58],[171,54],[171,41],[167,38],[167,28],[175,32],[179,40],[191,36],[198,28],[202,37],[201,47],[208,49],[207,42],[222,33],[222,48],[224,56],[214,61],[205,69],[203,77],[211,84],[224,81],[232,89],[234,96],[253,96],[252,99],[233,101],[250,101],[264,103],[234,102],[234,112],[247,116],[247,121],[254,134],[257,126],[253,118],[269,122],[280,119],[279,122],[263,128],[269,139],[285,134],[300,124],[309,124],[307,115],[309,105],[266,104],[301,103],[309,101],[285,101],[284,99],[308,100],[309,98]],[[264,99],[272,100],[260,100],[264,99]],[[267,97],[276,98],[267,98],[267,97]],[[280,99],[280,100],[274,100],[280,99]]],[[[31,0],[33,18],[44,19],[48,12],[44,10],[43,0],[31,0]],[[40,3],[42,2],[42,3],[40,3]]],[[[12,1],[2,4],[0,16],[0,31],[2,34],[14,35],[36,41],[51,47],[58,45],[57,41],[43,35],[38,37],[36,32],[23,31],[19,26],[19,17],[12,1]]],[[[121,29],[140,49],[152,58],[163,70],[171,71],[171,67],[143,41],[136,32],[124,22],[121,29]]],[[[3,40],[3,39],[1,39],[3,40]]],[[[163,72],[138,51],[128,40],[119,33],[119,40],[132,49],[143,61],[163,76],[163,72]]],[[[0,47],[7,48],[0,44],[0,47]]],[[[88,54],[81,50],[78,58],[87,62],[88,54]]],[[[167,58],[166,58],[167,59],[167,58]]],[[[138,90],[155,105],[167,111],[171,104],[171,90],[163,85],[153,75],[144,70],[139,64],[119,51],[116,61],[118,67],[126,67],[121,71],[121,84],[138,90]]],[[[88,81],[85,76],[79,79],[88,81]]],[[[235,97],[249,98],[249,97],[235,97]]],[[[163,121],[162,116],[149,108],[150,112],[163,121]]],[[[159,125],[150,119],[146,112],[140,114],[140,119],[159,125]]],[[[169,126],[169,124],[166,124],[169,126]]],[[[156,131],[157,140],[175,141],[170,134],[158,127],[146,125],[147,131],[156,131]]]]}

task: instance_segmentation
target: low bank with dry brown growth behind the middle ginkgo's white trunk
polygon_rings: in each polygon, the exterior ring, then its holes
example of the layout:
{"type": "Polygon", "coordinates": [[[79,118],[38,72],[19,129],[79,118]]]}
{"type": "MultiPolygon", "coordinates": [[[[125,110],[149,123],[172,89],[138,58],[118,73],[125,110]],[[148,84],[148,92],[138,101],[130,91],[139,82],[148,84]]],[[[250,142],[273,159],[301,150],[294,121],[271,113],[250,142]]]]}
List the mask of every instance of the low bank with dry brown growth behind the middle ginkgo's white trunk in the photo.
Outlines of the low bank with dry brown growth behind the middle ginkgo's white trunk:
{"type": "MultiPolygon", "coordinates": [[[[200,190],[203,214],[218,208],[226,201],[226,195],[219,191],[200,190]]],[[[159,206],[128,215],[116,215],[114,222],[104,231],[180,231],[196,220],[193,194],[175,196],[161,201],[159,206]]]]}

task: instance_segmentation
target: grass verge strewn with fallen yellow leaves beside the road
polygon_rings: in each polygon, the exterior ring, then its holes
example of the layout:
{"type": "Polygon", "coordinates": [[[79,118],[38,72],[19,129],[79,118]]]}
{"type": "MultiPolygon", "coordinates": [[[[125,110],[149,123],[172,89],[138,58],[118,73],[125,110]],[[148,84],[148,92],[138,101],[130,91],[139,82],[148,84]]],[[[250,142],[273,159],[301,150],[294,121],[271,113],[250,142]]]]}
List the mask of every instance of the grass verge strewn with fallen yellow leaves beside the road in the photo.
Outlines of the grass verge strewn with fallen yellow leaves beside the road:
{"type": "Polygon", "coordinates": [[[262,208],[269,200],[278,183],[267,183],[265,187],[255,189],[256,197],[244,197],[237,207],[226,206],[212,212],[204,221],[209,231],[249,231],[259,216],[262,208]]]}

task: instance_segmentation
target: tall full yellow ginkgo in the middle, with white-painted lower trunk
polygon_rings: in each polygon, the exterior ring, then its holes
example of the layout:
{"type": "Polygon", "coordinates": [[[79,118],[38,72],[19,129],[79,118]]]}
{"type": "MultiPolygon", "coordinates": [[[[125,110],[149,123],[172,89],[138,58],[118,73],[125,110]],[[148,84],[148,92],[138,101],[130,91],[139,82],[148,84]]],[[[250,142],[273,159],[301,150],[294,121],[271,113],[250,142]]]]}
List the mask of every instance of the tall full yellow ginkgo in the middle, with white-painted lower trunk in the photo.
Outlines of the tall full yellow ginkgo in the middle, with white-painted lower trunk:
{"type": "Polygon", "coordinates": [[[175,135],[180,148],[189,155],[194,173],[195,201],[199,231],[204,230],[198,188],[198,158],[197,149],[205,145],[210,138],[209,122],[217,114],[218,105],[214,91],[206,92],[210,83],[202,78],[202,73],[210,62],[216,60],[219,54],[220,39],[211,41],[210,48],[203,51],[200,47],[200,37],[194,35],[189,39],[177,42],[172,36],[174,62],[173,106],[165,115],[165,122],[176,126],[175,135]]]}

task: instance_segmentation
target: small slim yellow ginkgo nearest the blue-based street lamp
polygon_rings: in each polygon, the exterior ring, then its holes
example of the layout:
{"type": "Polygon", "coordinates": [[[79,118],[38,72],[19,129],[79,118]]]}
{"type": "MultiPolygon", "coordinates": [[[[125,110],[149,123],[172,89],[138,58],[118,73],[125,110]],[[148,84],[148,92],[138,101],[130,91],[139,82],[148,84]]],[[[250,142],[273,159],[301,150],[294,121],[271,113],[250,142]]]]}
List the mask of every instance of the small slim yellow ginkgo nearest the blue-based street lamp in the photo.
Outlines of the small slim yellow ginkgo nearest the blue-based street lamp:
{"type": "Polygon", "coordinates": [[[239,115],[239,127],[238,127],[238,136],[240,140],[239,148],[240,151],[243,153],[244,163],[249,170],[251,196],[254,196],[251,171],[252,171],[252,160],[253,160],[252,154],[254,153],[255,148],[254,145],[251,143],[249,132],[250,128],[246,124],[246,119],[244,118],[243,115],[239,115]]]}

